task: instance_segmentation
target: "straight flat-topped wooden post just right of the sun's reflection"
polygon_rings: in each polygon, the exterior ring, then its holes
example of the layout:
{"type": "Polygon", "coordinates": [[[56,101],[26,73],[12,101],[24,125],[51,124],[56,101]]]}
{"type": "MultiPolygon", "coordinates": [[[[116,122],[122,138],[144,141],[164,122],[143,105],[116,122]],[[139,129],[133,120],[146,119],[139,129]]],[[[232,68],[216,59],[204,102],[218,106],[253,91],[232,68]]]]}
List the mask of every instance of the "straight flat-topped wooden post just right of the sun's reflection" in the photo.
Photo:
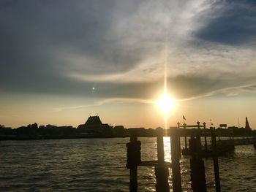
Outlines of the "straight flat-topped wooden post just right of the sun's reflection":
{"type": "Polygon", "coordinates": [[[170,128],[170,148],[173,172],[173,191],[181,192],[181,167],[179,163],[180,149],[178,143],[178,129],[170,128]]]}

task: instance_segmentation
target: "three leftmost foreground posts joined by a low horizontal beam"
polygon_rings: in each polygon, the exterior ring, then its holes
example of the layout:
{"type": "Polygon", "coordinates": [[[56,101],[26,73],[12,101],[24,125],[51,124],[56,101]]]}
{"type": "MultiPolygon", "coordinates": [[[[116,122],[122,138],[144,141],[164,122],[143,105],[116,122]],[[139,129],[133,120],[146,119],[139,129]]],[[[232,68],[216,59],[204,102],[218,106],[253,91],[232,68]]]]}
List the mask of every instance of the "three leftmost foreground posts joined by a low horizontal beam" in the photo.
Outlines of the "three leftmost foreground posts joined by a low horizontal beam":
{"type": "Polygon", "coordinates": [[[170,191],[168,176],[169,168],[171,168],[173,174],[176,175],[173,180],[173,188],[176,188],[176,191],[181,191],[181,172],[179,165],[180,152],[178,150],[178,135],[176,136],[176,139],[172,139],[173,141],[171,145],[176,146],[174,149],[172,148],[172,163],[165,161],[163,130],[157,130],[157,134],[155,137],[157,137],[157,161],[141,161],[141,143],[138,141],[138,134],[136,133],[136,131],[133,131],[130,136],[130,142],[127,143],[127,169],[129,169],[129,191],[138,191],[138,166],[154,167],[157,180],[156,191],[158,192],[170,191]]]}

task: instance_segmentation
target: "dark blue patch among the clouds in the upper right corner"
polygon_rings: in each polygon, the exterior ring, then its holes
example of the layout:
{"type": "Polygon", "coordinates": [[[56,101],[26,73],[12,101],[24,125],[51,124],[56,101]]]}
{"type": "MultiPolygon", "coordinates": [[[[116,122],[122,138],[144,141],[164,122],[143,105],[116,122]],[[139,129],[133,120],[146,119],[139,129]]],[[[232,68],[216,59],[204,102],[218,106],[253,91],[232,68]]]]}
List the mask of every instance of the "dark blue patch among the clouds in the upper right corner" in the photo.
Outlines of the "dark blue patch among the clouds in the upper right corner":
{"type": "Polygon", "coordinates": [[[195,33],[197,38],[225,45],[255,42],[256,1],[218,1],[213,9],[214,19],[195,33]]]}

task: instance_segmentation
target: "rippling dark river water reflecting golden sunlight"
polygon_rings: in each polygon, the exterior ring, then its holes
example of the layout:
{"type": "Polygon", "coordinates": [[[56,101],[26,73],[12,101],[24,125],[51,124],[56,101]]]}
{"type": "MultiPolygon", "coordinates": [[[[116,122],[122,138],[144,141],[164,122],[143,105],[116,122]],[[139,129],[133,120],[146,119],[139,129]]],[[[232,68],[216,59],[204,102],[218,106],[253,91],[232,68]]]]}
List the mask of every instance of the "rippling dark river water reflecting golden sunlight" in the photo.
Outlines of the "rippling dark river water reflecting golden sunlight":
{"type": "MultiPolygon", "coordinates": [[[[155,138],[139,138],[142,160],[156,160],[155,138]]],[[[0,142],[0,191],[129,191],[129,138],[0,142]]],[[[165,137],[165,160],[170,139],[165,137]]],[[[205,159],[208,191],[214,191],[211,158],[205,159]]],[[[222,191],[256,191],[256,152],[251,145],[219,158],[222,191]]],[[[181,158],[183,191],[191,191],[189,158],[181,158]]],[[[154,168],[138,169],[139,191],[155,191],[154,168]]],[[[169,178],[171,186],[171,177],[169,178]]]]}

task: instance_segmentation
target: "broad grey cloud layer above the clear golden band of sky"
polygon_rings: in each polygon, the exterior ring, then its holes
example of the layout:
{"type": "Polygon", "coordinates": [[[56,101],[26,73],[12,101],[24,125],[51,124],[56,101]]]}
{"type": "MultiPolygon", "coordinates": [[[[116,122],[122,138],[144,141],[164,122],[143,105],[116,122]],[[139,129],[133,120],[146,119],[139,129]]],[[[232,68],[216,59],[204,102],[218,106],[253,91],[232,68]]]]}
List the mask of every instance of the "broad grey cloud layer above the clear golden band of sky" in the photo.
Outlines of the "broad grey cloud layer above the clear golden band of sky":
{"type": "Polygon", "coordinates": [[[179,99],[255,83],[253,1],[1,1],[0,7],[1,92],[148,99],[162,89],[165,63],[179,99]]]}

